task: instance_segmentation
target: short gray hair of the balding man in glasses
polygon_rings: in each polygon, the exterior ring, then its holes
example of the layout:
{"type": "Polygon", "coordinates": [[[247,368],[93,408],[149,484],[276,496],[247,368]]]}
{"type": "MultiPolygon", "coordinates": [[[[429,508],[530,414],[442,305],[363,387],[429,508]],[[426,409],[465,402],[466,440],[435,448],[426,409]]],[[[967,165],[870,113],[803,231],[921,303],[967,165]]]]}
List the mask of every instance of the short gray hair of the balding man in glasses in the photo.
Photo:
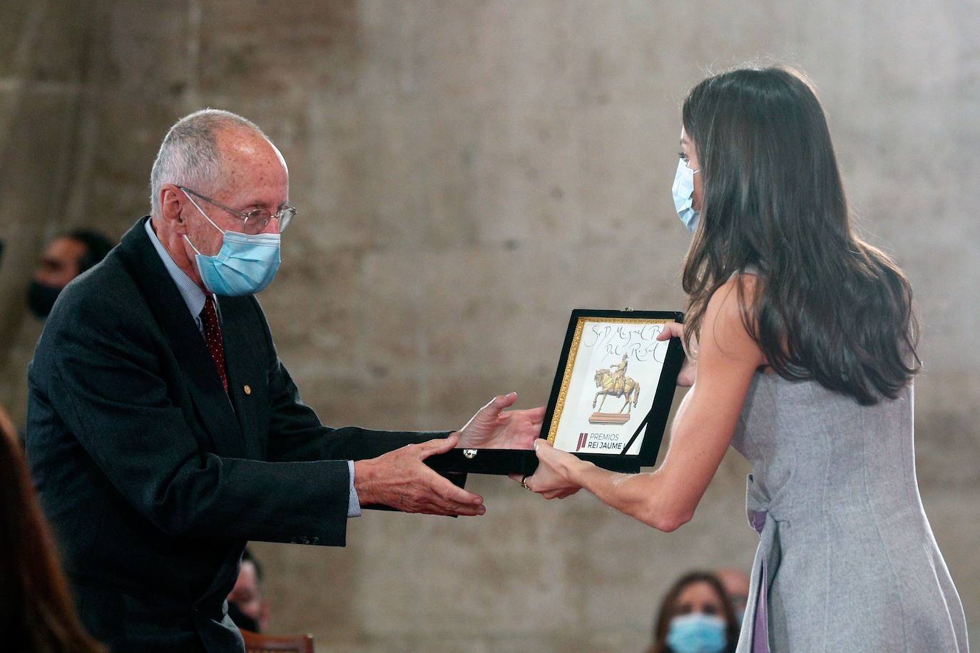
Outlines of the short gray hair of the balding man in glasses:
{"type": "Polygon", "coordinates": [[[252,120],[221,109],[202,109],[176,121],[150,172],[150,208],[155,217],[160,216],[160,187],[164,184],[212,192],[222,176],[218,132],[236,128],[266,135],[252,120]]]}

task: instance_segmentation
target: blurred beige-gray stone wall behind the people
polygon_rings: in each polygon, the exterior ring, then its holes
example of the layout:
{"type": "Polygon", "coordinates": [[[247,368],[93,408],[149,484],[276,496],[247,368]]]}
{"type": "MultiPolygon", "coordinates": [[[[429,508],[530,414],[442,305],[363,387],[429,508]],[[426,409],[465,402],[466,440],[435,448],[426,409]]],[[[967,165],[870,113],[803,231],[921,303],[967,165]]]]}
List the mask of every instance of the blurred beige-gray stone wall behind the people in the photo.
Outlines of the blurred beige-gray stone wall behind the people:
{"type": "MultiPolygon", "coordinates": [[[[0,24],[0,402],[23,422],[43,243],[148,209],[172,122],[258,121],[302,211],[262,296],[326,423],[453,428],[547,399],[568,312],[680,308],[679,103],[770,57],[816,81],[858,224],[924,324],[923,501],[980,629],[980,7],[937,0],[6,0],[0,24]]],[[[257,544],[271,630],[319,650],[641,650],[666,586],[748,567],[724,461],[662,535],[575,496],[473,478],[485,517],[369,513],[345,549],[257,544]]],[[[975,638],[975,635],[974,635],[975,638]]]]}

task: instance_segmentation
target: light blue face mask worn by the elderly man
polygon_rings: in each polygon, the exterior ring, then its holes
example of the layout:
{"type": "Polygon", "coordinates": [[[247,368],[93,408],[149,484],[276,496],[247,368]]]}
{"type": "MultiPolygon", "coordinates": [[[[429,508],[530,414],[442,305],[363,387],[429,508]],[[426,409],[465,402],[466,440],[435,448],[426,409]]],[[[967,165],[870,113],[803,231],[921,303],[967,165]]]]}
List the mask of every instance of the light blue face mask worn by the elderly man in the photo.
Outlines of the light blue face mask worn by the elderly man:
{"type": "Polygon", "coordinates": [[[201,254],[184,235],[184,239],[197,253],[197,270],[201,273],[204,287],[215,295],[226,297],[255,295],[265,290],[279,269],[279,234],[253,235],[224,231],[197,206],[192,197],[187,193],[184,195],[222,234],[221,250],[213,257],[201,254]]]}

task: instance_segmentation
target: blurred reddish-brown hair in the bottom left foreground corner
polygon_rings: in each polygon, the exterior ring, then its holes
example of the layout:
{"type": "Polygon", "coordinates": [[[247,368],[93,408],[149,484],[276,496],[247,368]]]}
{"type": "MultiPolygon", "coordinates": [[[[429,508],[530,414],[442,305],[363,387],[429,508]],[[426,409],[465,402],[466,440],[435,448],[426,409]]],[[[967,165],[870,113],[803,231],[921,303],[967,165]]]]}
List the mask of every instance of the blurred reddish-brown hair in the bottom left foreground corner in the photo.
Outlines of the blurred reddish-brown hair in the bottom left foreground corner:
{"type": "Polygon", "coordinates": [[[0,637],[12,651],[94,653],[54,540],[30,485],[24,451],[0,428],[0,637]]]}

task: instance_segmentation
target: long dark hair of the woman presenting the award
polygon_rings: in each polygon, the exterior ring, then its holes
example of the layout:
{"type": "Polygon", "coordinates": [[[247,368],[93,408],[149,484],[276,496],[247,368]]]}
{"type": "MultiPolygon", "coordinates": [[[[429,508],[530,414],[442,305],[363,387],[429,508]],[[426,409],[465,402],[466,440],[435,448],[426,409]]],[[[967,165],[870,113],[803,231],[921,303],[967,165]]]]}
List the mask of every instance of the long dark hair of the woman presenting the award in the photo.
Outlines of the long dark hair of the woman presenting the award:
{"type": "Polygon", "coordinates": [[[830,131],[809,81],[782,68],[705,79],[684,101],[702,175],[701,221],[684,261],[685,338],[733,274],[743,322],[769,365],[859,403],[895,398],[919,369],[911,287],[853,230],[830,131]]]}

